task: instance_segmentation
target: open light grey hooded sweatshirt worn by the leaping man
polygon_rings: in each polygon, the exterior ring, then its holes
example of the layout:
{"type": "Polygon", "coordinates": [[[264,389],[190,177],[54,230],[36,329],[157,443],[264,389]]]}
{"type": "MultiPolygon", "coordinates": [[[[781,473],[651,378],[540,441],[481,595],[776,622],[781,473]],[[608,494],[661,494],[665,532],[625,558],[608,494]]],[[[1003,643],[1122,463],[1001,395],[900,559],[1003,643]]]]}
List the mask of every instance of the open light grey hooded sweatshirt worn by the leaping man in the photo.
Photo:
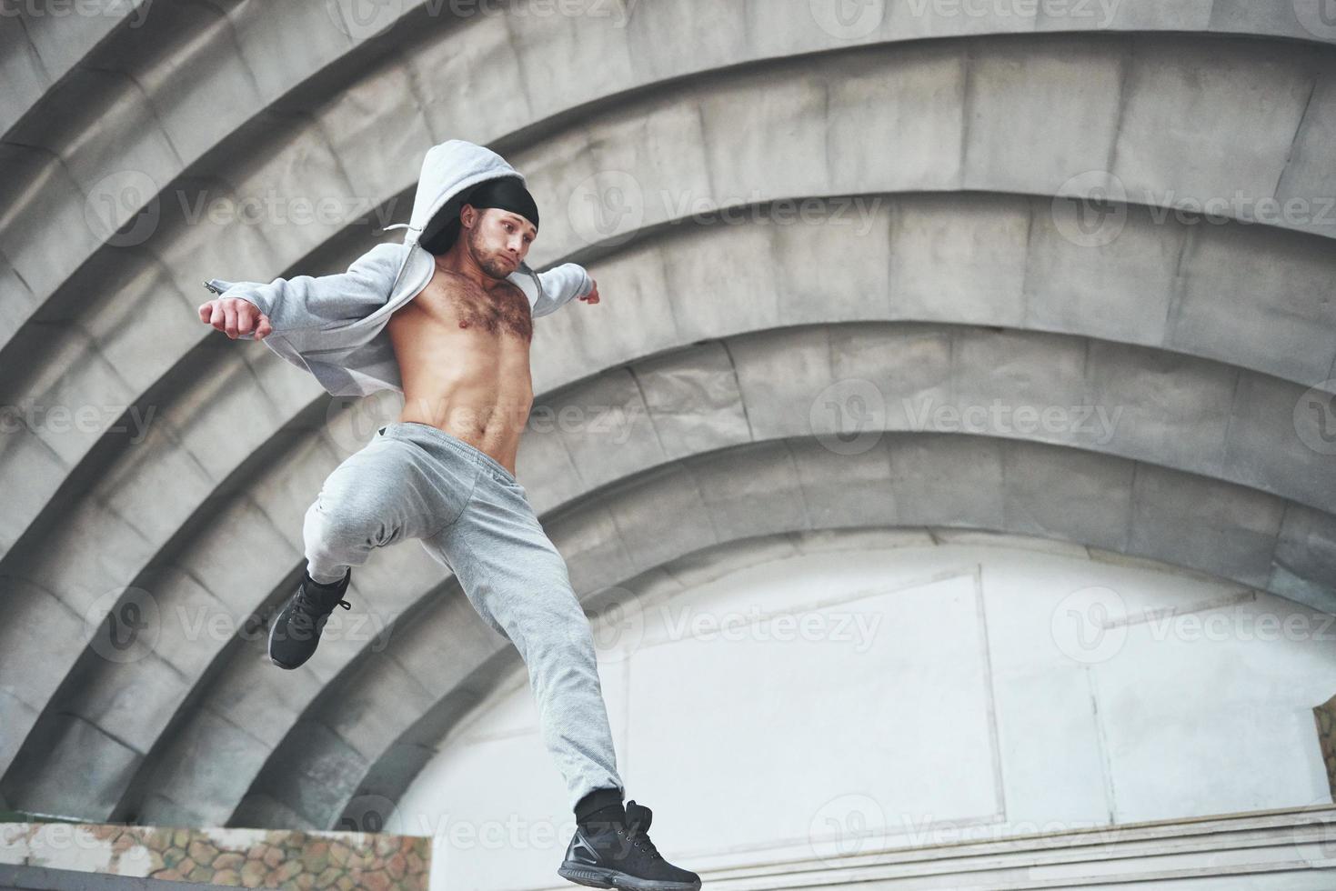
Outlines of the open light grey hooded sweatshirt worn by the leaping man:
{"type": "MultiPolygon", "coordinates": [[[[389,331],[390,315],[417,297],[436,271],[436,258],[418,244],[437,216],[458,216],[468,190],[500,176],[524,175],[494,151],[462,139],[433,146],[422,162],[410,223],[402,244],[377,244],[346,273],[298,275],[269,283],[210,279],[210,291],[254,303],[269,317],[273,333],[263,343],[297,367],[310,371],[333,395],[403,391],[389,331]]],[[[529,298],[534,318],[548,315],[593,290],[584,267],[562,263],[534,273],[528,263],[508,277],[529,298]]],[[[254,334],[239,335],[254,339],[254,334]]]]}

